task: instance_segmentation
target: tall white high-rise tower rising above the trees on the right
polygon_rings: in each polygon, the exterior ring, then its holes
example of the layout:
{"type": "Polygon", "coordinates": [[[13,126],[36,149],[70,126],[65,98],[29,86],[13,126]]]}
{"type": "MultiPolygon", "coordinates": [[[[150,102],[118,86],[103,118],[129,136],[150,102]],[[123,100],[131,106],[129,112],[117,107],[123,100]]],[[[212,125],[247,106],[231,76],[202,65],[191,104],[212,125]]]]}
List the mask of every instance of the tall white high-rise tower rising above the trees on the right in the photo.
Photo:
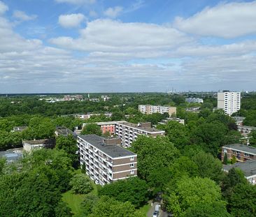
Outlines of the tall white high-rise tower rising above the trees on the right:
{"type": "Polygon", "coordinates": [[[225,114],[232,115],[238,112],[241,107],[241,92],[223,91],[218,93],[218,109],[225,111],[225,114]]]}

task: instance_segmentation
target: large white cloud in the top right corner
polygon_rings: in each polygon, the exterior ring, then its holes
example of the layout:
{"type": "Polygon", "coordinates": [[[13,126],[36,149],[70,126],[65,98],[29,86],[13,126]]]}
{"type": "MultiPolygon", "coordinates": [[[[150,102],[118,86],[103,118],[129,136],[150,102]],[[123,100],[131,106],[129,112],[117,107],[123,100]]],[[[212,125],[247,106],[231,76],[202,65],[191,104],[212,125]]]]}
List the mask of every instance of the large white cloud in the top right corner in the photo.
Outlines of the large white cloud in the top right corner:
{"type": "Polygon", "coordinates": [[[235,38],[256,33],[256,1],[221,3],[188,17],[176,17],[174,27],[200,36],[235,38]]]}

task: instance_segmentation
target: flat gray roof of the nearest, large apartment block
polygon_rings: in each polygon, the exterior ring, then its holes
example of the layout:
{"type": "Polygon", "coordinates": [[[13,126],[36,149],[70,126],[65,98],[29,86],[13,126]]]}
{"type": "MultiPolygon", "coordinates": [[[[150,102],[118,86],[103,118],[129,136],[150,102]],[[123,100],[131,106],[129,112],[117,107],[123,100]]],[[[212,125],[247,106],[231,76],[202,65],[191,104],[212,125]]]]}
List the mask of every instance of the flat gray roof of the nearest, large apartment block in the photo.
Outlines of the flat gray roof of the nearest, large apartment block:
{"type": "Polygon", "coordinates": [[[134,156],[134,152],[128,151],[125,148],[119,147],[116,144],[105,144],[104,138],[99,135],[78,135],[81,139],[89,142],[95,148],[102,151],[104,154],[111,156],[111,158],[120,158],[125,156],[134,156]]]}

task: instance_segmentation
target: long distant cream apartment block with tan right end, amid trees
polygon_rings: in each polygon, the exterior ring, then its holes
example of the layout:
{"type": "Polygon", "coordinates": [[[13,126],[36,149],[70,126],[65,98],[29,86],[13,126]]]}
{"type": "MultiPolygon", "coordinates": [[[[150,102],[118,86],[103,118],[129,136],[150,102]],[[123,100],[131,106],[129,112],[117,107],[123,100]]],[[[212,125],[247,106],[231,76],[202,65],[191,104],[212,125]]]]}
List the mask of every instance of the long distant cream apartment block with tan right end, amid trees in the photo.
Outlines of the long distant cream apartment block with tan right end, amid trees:
{"type": "Polygon", "coordinates": [[[176,107],[166,107],[159,105],[138,105],[138,110],[143,114],[168,113],[169,116],[176,115],[176,107]]]}

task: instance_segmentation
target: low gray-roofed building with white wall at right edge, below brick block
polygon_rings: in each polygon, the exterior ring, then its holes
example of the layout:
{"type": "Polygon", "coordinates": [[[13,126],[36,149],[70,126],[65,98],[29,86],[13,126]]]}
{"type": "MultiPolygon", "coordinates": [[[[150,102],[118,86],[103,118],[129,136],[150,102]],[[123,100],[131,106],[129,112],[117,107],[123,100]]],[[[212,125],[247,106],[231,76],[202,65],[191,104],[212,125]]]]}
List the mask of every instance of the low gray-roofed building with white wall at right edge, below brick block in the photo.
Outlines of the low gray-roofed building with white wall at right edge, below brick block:
{"type": "Polygon", "coordinates": [[[225,172],[229,172],[232,168],[239,168],[243,171],[250,184],[256,184],[256,160],[247,160],[246,162],[238,162],[233,165],[223,165],[223,171],[225,172]]]}

